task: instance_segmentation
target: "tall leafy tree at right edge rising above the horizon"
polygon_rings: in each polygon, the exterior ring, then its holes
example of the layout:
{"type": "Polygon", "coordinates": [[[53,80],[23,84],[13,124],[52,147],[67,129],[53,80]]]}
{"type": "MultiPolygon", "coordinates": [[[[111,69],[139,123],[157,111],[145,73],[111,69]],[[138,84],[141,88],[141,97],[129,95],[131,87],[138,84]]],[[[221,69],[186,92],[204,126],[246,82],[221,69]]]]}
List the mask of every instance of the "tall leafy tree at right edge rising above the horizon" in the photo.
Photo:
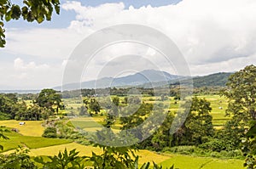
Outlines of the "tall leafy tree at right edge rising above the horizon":
{"type": "Polygon", "coordinates": [[[237,122],[256,120],[256,66],[248,65],[231,75],[222,92],[228,99],[227,115],[237,122]]]}

